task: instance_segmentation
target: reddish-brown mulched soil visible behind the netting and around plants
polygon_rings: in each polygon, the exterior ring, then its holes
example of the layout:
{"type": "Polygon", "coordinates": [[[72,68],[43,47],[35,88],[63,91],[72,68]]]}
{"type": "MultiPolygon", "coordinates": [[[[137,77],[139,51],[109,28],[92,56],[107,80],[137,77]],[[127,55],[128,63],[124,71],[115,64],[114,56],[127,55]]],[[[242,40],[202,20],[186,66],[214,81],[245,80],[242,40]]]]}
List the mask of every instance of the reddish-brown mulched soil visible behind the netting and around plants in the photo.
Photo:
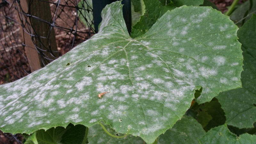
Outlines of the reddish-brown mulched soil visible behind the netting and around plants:
{"type": "MultiPolygon", "coordinates": [[[[12,4],[12,0],[7,0],[12,4]]],[[[211,0],[221,12],[227,11],[227,6],[231,5],[233,0],[211,0]]],[[[241,2],[243,0],[240,0],[241,2]]],[[[240,3],[241,3],[240,2],[240,3]]],[[[64,0],[61,1],[65,4],[64,0]]],[[[76,4],[76,0],[68,1],[69,5],[76,4]]],[[[67,5],[67,4],[65,4],[67,5]]],[[[55,5],[51,5],[51,10],[54,12],[55,5]]],[[[70,7],[62,7],[63,11],[58,12],[60,15],[56,19],[55,25],[62,28],[74,28],[74,20],[76,17],[75,9],[70,7]],[[67,16],[67,14],[71,14],[67,16]]],[[[53,14],[53,13],[52,13],[53,14]]],[[[18,21],[16,10],[11,5],[5,5],[4,0],[0,0],[0,84],[15,81],[30,73],[30,68],[25,57],[25,52],[22,44],[22,37],[20,35],[20,27],[16,22],[7,20],[4,16],[18,21]],[[9,23],[9,25],[6,25],[9,23]],[[14,47],[14,48],[13,48],[14,47]]],[[[86,31],[82,23],[77,24],[79,31],[86,31]]],[[[87,30],[88,31],[88,30],[87,30]]],[[[84,42],[89,38],[86,33],[77,33],[79,36],[70,35],[70,32],[65,32],[60,29],[55,29],[56,42],[60,54],[64,54],[75,47],[77,44],[84,42]],[[75,41],[72,46],[72,42],[75,41]]],[[[19,144],[22,141],[20,134],[12,135],[10,133],[3,133],[0,131],[0,144],[19,144]]]]}

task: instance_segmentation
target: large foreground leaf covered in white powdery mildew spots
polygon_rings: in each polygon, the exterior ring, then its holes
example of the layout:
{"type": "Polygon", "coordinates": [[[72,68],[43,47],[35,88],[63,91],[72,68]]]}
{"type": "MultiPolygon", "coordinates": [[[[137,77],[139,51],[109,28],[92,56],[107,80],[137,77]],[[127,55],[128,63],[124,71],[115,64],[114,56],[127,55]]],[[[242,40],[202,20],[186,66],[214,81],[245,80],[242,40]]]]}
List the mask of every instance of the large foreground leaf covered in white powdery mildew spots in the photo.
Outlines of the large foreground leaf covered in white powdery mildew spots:
{"type": "Polygon", "coordinates": [[[126,30],[121,2],[108,5],[102,17],[100,32],[91,39],[0,86],[1,130],[32,133],[103,120],[116,132],[130,129],[153,143],[184,115],[195,90],[203,87],[197,99],[202,103],[240,86],[237,27],[220,12],[183,6],[135,39],[126,30]],[[100,99],[102,92],[108,93],[100,99]]]}

